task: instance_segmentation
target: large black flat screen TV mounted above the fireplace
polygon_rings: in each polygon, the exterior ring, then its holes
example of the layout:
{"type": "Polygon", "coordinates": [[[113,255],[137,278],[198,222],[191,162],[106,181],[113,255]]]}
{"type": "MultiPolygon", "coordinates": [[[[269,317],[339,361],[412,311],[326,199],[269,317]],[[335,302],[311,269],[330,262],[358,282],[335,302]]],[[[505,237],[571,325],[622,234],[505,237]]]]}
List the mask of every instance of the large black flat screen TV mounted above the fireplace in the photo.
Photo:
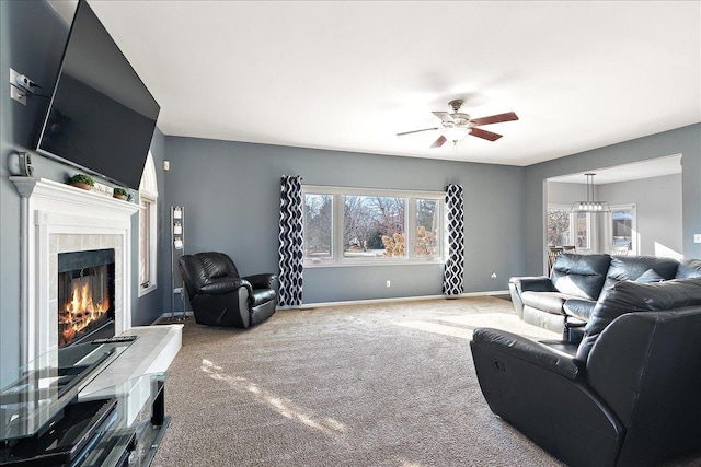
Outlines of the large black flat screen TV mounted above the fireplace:
{"type": "Polygon", "coordinates": [[[107,30],[80,0],[37,152],[138,189],[159,112],[107,30]]]}

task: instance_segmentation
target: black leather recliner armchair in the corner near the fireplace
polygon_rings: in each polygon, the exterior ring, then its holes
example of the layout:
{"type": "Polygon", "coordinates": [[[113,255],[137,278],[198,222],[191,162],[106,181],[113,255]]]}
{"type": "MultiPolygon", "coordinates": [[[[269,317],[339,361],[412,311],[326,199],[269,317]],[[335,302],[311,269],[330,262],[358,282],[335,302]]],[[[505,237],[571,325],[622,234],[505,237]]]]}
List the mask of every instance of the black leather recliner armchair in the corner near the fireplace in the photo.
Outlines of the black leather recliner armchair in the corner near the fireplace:
{"type": "Polygon", "coordinates": [[[275,313],[277,276],[240,277],[233,260],[217,252],[183,255],[177,262],[196,323],[245,329],[275,313]]]}

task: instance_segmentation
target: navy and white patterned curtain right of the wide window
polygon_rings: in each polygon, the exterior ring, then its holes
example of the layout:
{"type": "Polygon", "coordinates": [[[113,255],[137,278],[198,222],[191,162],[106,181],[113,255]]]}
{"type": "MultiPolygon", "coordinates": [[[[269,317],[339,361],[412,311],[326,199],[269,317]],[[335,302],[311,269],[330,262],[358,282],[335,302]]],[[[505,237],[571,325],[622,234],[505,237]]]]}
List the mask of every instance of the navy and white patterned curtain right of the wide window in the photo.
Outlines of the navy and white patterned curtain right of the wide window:
{"type": "Polygon", "coordinates": [[[446,187],[448,217],[448,259],[443,275],[443,294],[460,295],[464,291],[464,212],[462,186],[446,187]]]}

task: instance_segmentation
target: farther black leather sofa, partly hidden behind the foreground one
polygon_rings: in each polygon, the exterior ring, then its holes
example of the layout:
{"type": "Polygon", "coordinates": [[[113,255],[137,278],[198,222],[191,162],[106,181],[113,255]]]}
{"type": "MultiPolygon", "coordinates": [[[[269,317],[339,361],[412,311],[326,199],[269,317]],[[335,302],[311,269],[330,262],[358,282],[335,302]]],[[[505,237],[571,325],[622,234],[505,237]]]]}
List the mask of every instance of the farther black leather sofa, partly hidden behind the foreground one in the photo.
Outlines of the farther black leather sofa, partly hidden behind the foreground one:
{"type": "Polygon", "coordinates": [[[558,256],[550,277],[509,279],[512,303],[526,323],[564,332],[576,341],[602,291],[619,281],[658,282],[701,277],[701,260],[655,256],[558,256]]]}

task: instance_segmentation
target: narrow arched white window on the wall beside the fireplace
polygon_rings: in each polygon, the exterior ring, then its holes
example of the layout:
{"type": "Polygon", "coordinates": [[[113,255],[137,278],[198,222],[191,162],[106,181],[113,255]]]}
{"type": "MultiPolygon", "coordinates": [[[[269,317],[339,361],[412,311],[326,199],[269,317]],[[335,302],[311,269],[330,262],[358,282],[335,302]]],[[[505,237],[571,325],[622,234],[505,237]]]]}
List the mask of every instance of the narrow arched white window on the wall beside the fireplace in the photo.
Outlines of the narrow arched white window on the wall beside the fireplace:
{"type": "Polygon", "coordinates": [[[157,207],[156,165],[149,151],[139,184],[139,296],[156,290],[157,277],[157,207]]]}

